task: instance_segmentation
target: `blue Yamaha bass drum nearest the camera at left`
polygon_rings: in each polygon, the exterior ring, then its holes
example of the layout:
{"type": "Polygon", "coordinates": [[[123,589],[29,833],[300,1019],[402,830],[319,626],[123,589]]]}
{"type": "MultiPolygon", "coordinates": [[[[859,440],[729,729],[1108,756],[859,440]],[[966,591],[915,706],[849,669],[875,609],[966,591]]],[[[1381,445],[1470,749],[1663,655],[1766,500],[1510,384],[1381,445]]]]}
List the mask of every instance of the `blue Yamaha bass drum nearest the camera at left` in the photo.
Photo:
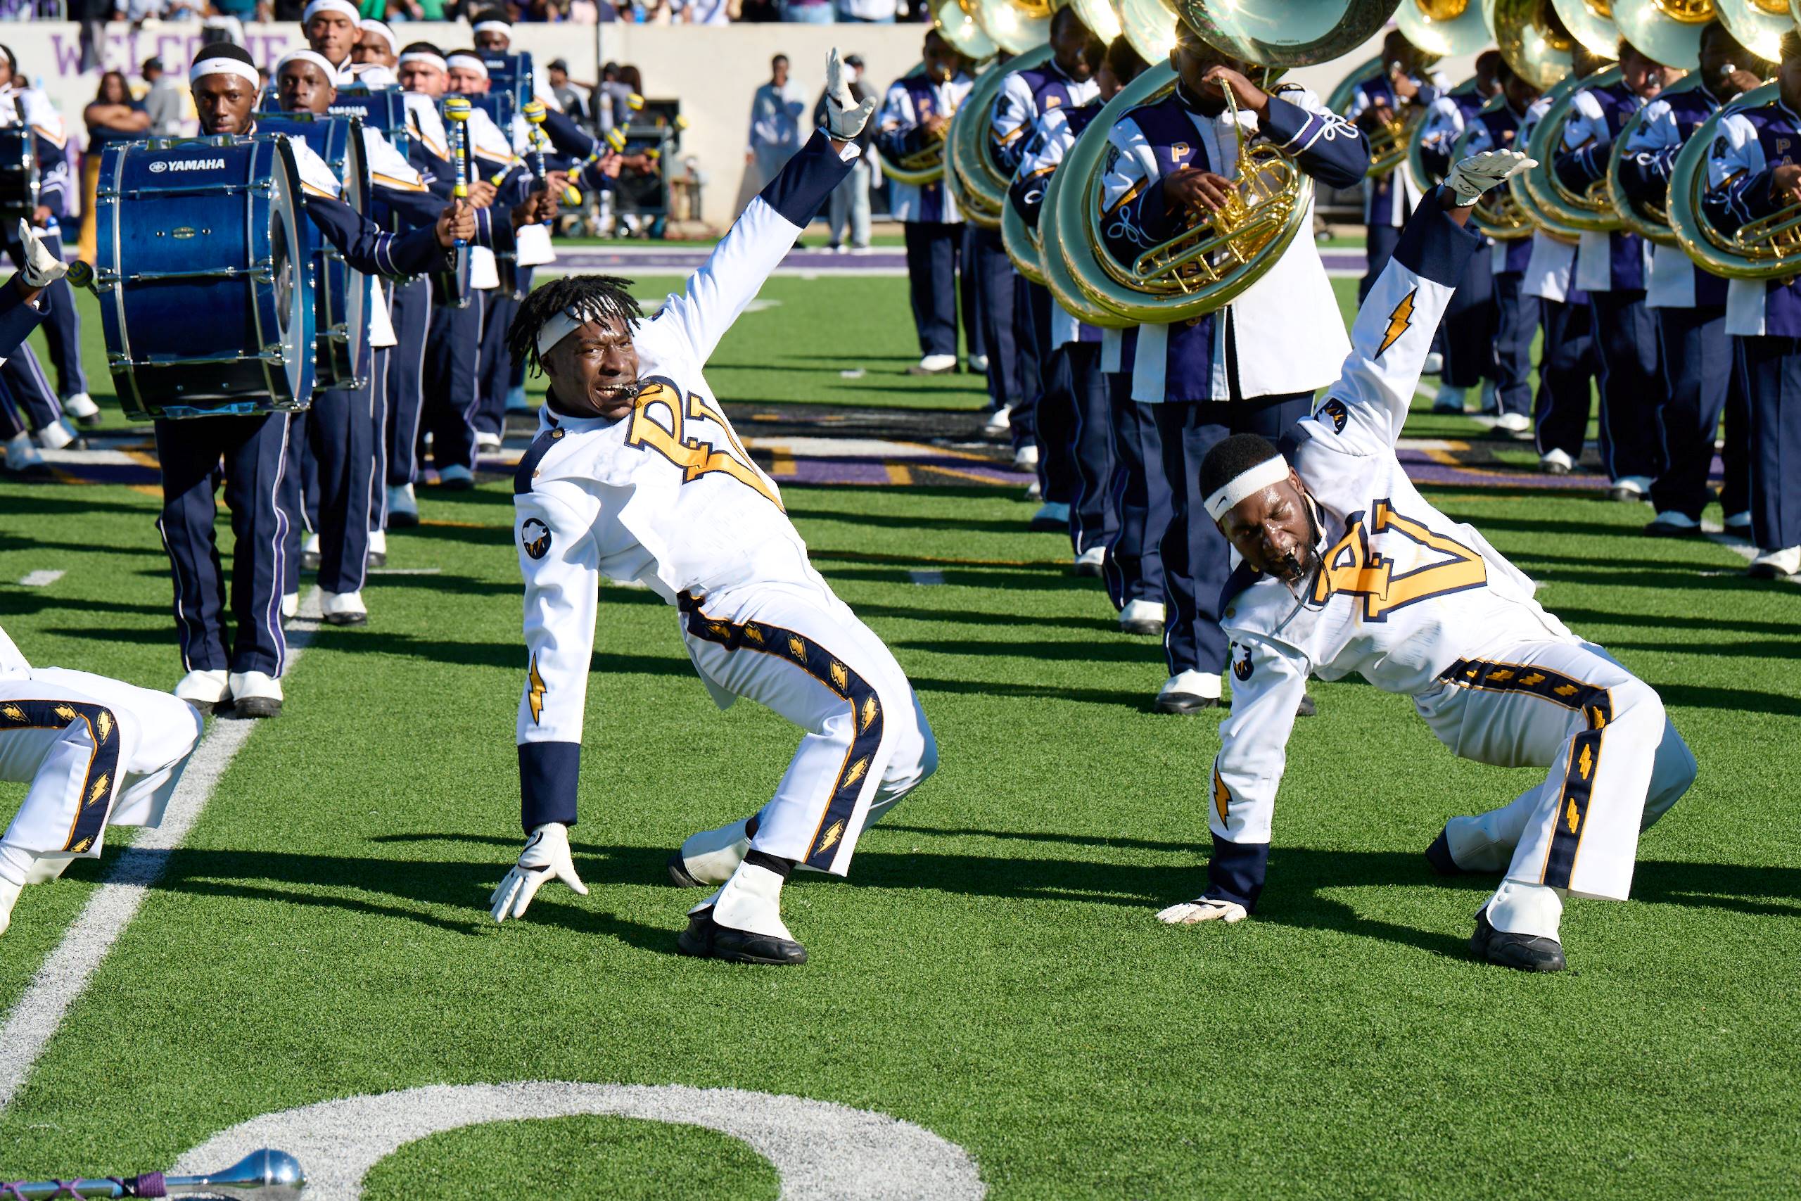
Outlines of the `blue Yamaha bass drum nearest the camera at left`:
{"type": "Polygon", "coordinates": [[[94,216],[92,288],[126,416],[247,416],[312,403],[306,216],[285,140],[108,146],[94,216]]]}

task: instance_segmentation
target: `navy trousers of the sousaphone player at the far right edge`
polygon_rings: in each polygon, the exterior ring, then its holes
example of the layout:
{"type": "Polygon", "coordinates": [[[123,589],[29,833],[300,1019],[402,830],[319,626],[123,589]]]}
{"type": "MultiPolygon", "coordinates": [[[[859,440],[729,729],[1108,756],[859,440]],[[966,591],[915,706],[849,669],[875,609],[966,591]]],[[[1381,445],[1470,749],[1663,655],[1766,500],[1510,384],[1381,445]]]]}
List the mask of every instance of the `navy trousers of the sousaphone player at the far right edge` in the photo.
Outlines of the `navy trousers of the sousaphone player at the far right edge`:
{"type": "Polygon", "coordinates": [[[1801,546],[1801,339],[1733,339],[1751,409],[1751,540],[1801,546]]]}

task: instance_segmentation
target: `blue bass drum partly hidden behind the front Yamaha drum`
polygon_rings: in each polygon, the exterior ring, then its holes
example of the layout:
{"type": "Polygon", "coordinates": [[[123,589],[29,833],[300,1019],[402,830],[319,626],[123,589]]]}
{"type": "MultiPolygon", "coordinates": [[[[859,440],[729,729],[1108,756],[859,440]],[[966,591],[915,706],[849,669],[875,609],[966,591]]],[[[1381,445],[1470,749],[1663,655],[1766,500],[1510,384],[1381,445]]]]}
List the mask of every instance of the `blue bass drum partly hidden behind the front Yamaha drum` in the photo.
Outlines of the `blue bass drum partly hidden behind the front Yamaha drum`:
{"type": "MultiPolygon", "coordinates": [[[[340,200],[357,212],[369,211],[369,164],[362,153],[360,121],[313,113],[258,113],[256,133],[306,142],[344,187],[340,200]]],[[[369,277],[351,270],[317,225],[304,221],[304,227],[313,261],[313,331],[319,344],[315,384],[322,389],[362,387],[369,382],[369,277]]]]}

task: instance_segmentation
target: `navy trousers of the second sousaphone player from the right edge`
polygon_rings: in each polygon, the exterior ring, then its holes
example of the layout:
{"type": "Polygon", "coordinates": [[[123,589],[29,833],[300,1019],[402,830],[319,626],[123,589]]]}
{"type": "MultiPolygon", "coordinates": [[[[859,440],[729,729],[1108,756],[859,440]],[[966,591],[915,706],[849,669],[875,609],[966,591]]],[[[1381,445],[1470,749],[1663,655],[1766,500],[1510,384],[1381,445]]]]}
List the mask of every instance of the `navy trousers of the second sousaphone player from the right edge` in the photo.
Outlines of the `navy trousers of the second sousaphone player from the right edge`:
{"type": "MultiPolygon", "coordinates": [[[[1657,351],[1664,371],[1662,403],[1657,407],[1664,470],[1652,481],[1652,506],[1659,513],[1684,513],[1700,520],[1700,511],[1707,506],[1707,472],[1713,468],[1720,414],[1725,412],[1727,396],[1738,387],[1734,346],[1725,333],[1725,306],[1652,312],[1657,317],[1657,351]]],[[[1727,459],[1729,468],[1747,468],[1742,461],[1733,463],[1733,454],[1727,459]]],[[[1729,475],[1738,472],[1729,470],[1729,475]]],[[[1745,495],[1743,481],[1738,481],[1738,493],[1745,495]]]]}

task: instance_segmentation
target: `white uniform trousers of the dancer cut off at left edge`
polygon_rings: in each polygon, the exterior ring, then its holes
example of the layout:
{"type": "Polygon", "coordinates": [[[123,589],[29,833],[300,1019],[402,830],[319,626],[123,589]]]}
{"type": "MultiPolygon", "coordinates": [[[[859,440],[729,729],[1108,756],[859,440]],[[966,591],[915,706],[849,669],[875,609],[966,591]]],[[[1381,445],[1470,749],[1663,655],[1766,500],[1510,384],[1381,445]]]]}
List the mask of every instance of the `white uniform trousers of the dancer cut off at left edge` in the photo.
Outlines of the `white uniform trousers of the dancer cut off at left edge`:
{"type": "Polygon", "coordinates": [[[0,780],[31,785],[0,837],[0,877],[97,859],[108,825],[160,825],[200,731],[166,691],[63,668],[0,673],[0,780]]]}

